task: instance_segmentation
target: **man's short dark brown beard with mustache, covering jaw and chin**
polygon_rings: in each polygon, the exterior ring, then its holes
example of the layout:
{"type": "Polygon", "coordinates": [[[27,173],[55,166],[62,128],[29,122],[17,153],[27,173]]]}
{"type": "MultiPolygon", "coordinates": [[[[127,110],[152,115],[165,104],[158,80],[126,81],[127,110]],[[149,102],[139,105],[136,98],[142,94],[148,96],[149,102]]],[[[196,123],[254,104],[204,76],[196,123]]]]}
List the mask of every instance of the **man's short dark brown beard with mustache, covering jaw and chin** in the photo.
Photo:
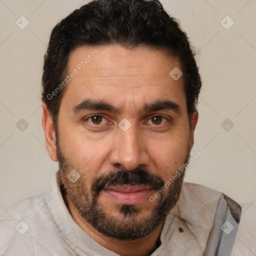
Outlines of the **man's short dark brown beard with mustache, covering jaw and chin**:
{"type": "MultiPolygon", "coordinates": [[[[125,169],[114,169],[105,175],[94,177],[89,188],[84,184],[84,172],[88,172],[88,170],[76,168],[74,164],[71,164],[63,156],[57,137],[56,146],[59,161],[59,170],[57,172],[59,187],[70,198],[80,216],[97,231],[108,237],[116,240],[131,241],[147,236],[165,220],[167,214],[179,198],[185,171],[164,192],[161,191],[150,216],[140,216],[140,212],[143,209],[142,204],[115,204],[118,209],[118,216],[121,217],[114,217],[99,201],[99,196],[103,189],[106,189],[108,186],[125,184],[148,185],[156,192],[164,186],[162,178],[150,174],[147,170],[141,168],[129,171],[125,169]],[[75,169],[80,175],[74,183],[67,178],[67,174],[72,169],[75,169]]],[[[188,159],[189,151],[187,151],[184,163],[187,163],[188,159]]]]}

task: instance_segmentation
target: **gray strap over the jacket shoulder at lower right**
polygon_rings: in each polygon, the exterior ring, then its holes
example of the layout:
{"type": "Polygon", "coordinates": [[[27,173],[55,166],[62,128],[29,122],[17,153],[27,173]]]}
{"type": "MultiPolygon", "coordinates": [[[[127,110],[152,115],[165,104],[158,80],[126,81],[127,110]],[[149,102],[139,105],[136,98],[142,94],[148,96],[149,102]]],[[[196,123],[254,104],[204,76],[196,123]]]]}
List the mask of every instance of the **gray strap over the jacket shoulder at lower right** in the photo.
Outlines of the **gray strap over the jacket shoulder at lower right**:
{"type": "Polygon", "coordinates": [[[240,215],[241,206],[230,197],[222,194],[218,200],[212,229],[203,256],[231,255],[240,215]]]}

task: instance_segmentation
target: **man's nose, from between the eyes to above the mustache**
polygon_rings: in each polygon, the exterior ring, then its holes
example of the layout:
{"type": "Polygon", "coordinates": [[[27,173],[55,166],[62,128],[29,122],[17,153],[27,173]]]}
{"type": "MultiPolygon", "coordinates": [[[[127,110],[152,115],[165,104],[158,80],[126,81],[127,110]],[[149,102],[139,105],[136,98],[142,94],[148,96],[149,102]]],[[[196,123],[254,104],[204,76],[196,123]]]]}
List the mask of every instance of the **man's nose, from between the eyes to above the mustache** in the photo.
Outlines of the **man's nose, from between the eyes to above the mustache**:
{"type": "Polygon", "coordinates": [[[132,126],[126,131],[117,128],[112,139],[110,164],[116,168],[133,170],[149,164],[149,149],[140,132],[132,126]]]}

